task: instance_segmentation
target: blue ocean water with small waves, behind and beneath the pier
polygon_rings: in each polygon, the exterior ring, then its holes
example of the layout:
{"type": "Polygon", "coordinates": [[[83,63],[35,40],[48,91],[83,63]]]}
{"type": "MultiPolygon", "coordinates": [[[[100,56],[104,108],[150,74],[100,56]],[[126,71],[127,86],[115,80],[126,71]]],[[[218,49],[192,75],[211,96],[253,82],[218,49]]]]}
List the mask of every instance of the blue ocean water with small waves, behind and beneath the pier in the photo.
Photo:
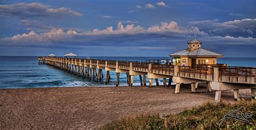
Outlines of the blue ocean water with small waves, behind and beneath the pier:
{"type": "MultiPolygon", "coordinates": [[[[84,57],[86,58],[86,57],[84,57]]],[[[145,61],[146,59],[170,59],[170,57],[92,57],[91,59],[145,61]]],[[[223,57],[218,63],[227,63],[228,66],[255,67],[256,58],[223,57]]],[[[70,74],[46,64],[38,64],[37,56],[0,56],[0,89],[10,88],[42,88],[42,87],[66,87],[66,86],[115,86],[116,73],[110,71],[111,79],[105,85],[104,78],[96,82],[70,74]]],[[[147,85],[149,84],[147,79],[147,85]]],[[[167,81],[168,82],[168,81],[167,81]]],[[[134,85],[139,85],[139,76],[134,77],[134,85]]],[[[159,79],[159,84],[163,81],[159,79]]],[[[127,85],[126,74],[120,74],[120,86],[127,85]]]]}

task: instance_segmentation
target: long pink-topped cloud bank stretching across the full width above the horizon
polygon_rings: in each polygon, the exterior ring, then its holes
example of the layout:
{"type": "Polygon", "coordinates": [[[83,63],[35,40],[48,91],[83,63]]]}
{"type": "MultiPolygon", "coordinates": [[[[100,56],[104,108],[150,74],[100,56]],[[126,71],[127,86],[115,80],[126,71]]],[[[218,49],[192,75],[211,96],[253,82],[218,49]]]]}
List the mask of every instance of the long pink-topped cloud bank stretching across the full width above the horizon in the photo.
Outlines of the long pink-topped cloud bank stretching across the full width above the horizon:
{"type": "MultiPolygon", "coordinates": [[[[53,28],[44,33],[30,31],[29,33],[14,35],[0,39],[2,47],[44,47],[44,48],[85,48],[99,47],[132,47],[139,50],[177,51],[184,49],[186,42],[194,37],[204,43],[204,48],[214,51],[216,48],[227,46],[241,46],[244,49],[255,48],[256,39],[253,37],[233,37],[231,35],[208,35],[196,26],[180,26],[175,21],[161,22],[150,27],[134,25],[131,21],[119,21],[117,27],[109,26],[105,29],[92,31],[76,31],[72,29],[53,28]],[[127,23],[127,24],[124,24],[127,23]],[[66,31],[65,31],[66,30],[66,31]],[[247,47],[247,48],[246,48],[247,47]],[[166,48],[166,49],[165,49],[166,48]],[[169,50],[170,49],[170,50],[169,50]]],[[[231,23],[230,23],[231,24],[231,23]]],[[[231,51],[229,49],[228,51],[231,51]]],[[[251,51],[251,50],[250,50],[251,51]]]]}

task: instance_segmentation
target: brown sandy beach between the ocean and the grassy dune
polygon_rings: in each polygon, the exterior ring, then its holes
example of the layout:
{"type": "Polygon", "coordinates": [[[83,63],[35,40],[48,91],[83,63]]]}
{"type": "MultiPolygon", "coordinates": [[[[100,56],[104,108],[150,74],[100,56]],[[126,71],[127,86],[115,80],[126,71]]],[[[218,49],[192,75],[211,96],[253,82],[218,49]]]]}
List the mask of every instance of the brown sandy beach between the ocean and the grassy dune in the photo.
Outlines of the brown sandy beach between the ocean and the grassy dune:
{"type": "MultiPolygon", "coordinates": [[[[33,88],[0,90],[0,129],[97,128],[112,120],[142,113],[177,113],[213,102],[214,92],[199,84],[191,93],[189,84],[175,86],[122,86],[109,88],[33,88]]],[[[250,99],[250,89],[240,97],[250,99]]],[[[235,103],[233,91],[224,91],[224,102],[235,103]]]]}

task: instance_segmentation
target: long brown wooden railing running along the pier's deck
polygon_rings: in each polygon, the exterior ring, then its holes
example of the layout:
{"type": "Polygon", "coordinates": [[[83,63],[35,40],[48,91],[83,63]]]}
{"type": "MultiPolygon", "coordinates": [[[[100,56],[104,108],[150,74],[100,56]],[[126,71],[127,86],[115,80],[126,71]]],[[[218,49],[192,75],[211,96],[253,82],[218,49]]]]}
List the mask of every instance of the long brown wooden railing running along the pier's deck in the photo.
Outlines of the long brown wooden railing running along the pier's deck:
{"type": "Polygon", "coordinates": [[[256,83],[256,68],[255,67],[231,67],[226,64],[197,64],[195,67],[178,66],[174,71],[174,66],[171,64],[160,64],[154,62],[138,62],[138,61],[116,61],[116,60],[97,60],[97,59],[72,59],[63,57],[38,57],[39,60],[44,60],[52,63],[69,63],[78,66],[99,66],[109,67],[113,69],[124,69],[139,71],[142,73],[153,73],[167,76],[180,76],[194,78],[198,80],[213,81],[214,76],[218,77],[219,82],[230,83],[256,83]],[[85,63],[85,64],[84,64],[85,63]],[[117,66],[118,65],[118,66],[117,66]],[[131,68],[132,67],[132,68],[131,68]],[[215,68],[215,69],[214,69],[215,68]],[[215,70],[218,73],[215,73],[215,70]],[[217,71],[216,70],[216,71],[217,71]],[[174,72],[176,74],[174,74],[174,72]]]}

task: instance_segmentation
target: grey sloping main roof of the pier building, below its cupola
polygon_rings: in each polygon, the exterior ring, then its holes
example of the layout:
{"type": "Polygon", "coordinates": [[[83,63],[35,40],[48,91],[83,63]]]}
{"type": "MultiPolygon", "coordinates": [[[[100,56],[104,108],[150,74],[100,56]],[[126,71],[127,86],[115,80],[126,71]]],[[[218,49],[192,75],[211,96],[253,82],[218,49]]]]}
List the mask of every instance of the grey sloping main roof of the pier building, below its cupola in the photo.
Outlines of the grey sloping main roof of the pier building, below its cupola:
{"type": "Polygon", "coordinates": [[[181,50],[180,52],[173,53],[169,56],[223,56],[222,54],[218,54],[215,52],[211,52],[210,50],[206,50],[203,48],[198,48],[194,50],[181,50]]]}

